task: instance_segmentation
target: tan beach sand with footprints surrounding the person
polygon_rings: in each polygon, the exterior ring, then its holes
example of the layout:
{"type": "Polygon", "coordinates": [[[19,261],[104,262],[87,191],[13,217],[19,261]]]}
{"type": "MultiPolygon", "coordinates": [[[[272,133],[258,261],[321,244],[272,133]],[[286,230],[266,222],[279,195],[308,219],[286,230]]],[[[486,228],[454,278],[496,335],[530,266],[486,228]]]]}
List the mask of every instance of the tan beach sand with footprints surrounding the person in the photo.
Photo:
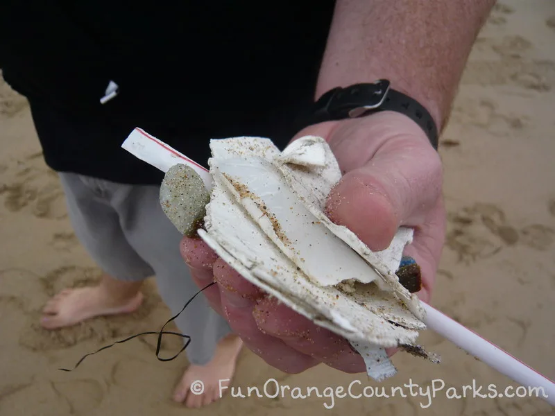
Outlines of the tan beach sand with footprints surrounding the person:
{"type": "MultiPolygon", "coordinates": [[[[555,2],[504,0],[495,6],[474,46],[441,143],[447,243],[433,305],[555,379],[555,2]]],[[[125,139],[122,137],[122,140],[125,139]]],[[[284,374],[248,351],[232,385],[246,395],[269,379],[300,388],[336,388],[443,381],[431,400],[411,397],[231,397],[200,410],[173,404],[173,386],[185,354],[157,361],[156,337],[144,336],[89,356],[89,352],[142,331],[157,331],[169,311],[153,281],[130,315],[95,318],[46,331],[42,306],[67,286],[98,277],[67,218],[56,173],[44,164],[26,100],[0,80],[0,415],[465,415],[543,416],[555,408],[536,397],[448,399],[464,385],[497,391],[513,381],[468,356],[432,331],[421,343],[441,355],[434,365],[397,354],[398,374],[375,383],[324,365],[284,374]],[[327,406],[327,407],[326,407],[327,406]]],[[[185,303],[186,299],[184,299],[185,303]]],[[[162,356],[180,349],[164,338],[162,356]]],[[[269,392],[273,392],[270,388],[269,392]]]]}

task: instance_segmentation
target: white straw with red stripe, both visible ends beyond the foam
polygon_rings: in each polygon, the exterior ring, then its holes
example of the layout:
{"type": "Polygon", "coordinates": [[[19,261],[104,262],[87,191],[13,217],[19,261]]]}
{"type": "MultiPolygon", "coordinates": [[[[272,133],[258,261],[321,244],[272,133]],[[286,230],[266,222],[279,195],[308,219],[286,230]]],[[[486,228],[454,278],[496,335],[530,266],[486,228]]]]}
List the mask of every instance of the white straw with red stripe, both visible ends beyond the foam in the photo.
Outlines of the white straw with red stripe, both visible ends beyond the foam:
{"type": "MultiPolygon", "coordinates": [[[[203,178],[207,189],[212,188],[212,177],[206,168],[140,128],[135,128],[121,147],[164,173],[174,164],[187,164],[203,178]]],[[[543,392],[538,392],[539,397],[555,406],[553,381],[432,306],[423,302],[422,306],[426,311],[425,324],[429,329],[520,385],[527,388],[543,388],[543,392]]]]}

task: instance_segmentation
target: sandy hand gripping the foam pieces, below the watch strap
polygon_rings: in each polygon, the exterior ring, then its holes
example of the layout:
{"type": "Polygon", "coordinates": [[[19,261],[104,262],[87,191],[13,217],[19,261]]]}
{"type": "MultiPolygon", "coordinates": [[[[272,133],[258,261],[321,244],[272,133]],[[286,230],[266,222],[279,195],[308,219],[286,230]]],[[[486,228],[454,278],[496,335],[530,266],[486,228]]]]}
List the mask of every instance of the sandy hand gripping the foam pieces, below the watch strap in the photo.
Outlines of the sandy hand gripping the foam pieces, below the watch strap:
{"type": "MultiPolygon", "coordinates": [[[[415,229],[407,254],[420,264],[420,299],[429,302],[445,233],[441,160],[424,132],[402,114],[383,112],[361,119],[321,123],[305,135],[324,137],[343,177],[327,200],[327,215],[349,227],[371,250],[384,250],[400,227],[415,229]]],[[[361,356],[347,340],[316,326],[269,299],[202,240],[183,239],[182,256],[196,284],[245,345],[266,363],[296,373],[318,363],[344,372],[364,372],[361,356]]],[[[393,354],[393,352],[390,352],[393,354]]]]}

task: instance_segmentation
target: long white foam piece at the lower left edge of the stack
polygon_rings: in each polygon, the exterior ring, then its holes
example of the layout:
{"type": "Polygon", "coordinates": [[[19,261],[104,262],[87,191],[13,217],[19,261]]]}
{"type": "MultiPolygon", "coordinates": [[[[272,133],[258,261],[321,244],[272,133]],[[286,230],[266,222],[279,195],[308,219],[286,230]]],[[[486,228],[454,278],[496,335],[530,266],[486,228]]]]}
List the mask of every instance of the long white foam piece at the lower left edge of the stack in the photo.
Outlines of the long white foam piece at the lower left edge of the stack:
{"type": "MultiPolygon", "coordinates": [[[[216,170],[216,165],[212,164],[216,170]]],[[[214,176],[211,202],[205,218],[206,232],[199,235],[241,275],[278,297],[293,310],[348,339],[372,340],[376,345],[413,343],[418,333],[391,324],[336,288],[320,287],[297,270],[253,218],[239,205],[232,192],[214,176]],[[237,264],[241,267],[238,268],[237,264]]],[[[368,266],[366,266],[368,267],[368,266]]]]}

